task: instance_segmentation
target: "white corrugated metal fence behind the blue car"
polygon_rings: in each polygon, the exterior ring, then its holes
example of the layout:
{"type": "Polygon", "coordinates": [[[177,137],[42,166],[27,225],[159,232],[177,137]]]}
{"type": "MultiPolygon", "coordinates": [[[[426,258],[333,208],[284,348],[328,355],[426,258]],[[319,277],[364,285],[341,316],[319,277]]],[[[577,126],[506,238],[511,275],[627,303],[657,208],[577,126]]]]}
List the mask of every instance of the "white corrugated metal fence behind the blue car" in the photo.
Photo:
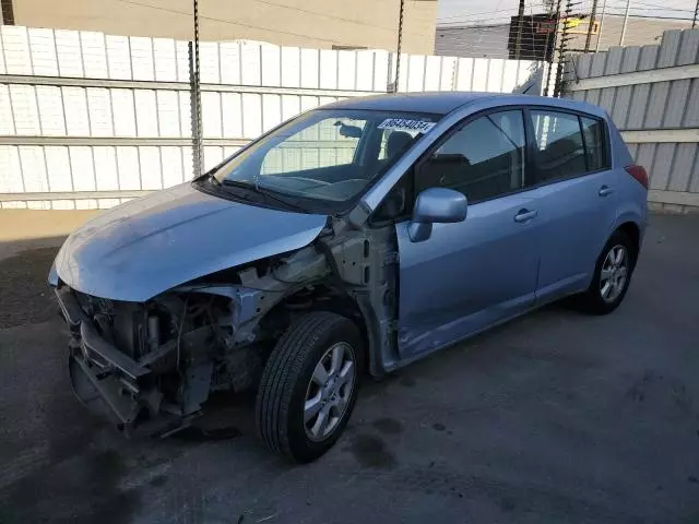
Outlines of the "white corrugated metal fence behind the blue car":
{"type": "MultiPolygon", "coordinates": [[[[303,110],[386,93],[390,64],[388,51],[202,43],[205,167],[303,110]]],[[[512,92],[538,67],[403,55],[399,90],[512,92]]],[[[186,41],[0,26],[2,207],[109,207],[190,179],[188,80],[186,41]]]]}

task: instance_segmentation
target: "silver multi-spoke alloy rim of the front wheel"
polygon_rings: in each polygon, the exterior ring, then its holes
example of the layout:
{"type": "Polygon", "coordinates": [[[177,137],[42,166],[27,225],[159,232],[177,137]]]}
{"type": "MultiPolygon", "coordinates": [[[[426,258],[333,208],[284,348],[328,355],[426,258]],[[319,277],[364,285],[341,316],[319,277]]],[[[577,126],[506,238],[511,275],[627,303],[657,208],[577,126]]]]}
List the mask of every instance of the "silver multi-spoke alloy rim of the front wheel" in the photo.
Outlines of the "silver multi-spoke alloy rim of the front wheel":
{"type": "Polygon", "coordinates": [[[320,358],[306,391],[304,427],[316,442],[327,439],[344,417],[355,386],[354,348],[339,342],[320,358]]]}

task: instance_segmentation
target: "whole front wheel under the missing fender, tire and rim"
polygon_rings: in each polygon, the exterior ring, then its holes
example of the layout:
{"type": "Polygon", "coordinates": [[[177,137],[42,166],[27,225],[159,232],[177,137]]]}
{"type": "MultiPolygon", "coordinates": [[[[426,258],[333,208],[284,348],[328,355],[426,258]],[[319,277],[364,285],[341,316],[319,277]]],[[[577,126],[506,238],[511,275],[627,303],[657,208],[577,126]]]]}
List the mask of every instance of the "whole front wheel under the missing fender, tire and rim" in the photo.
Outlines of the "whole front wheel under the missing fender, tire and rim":
{"type": "Polygon", "coordinates": [[[260,380],[256,415],[266,446],[300,463],[325,453],[357,398],[362,356],[359,332],[344,317],[315,311],[292,324],[260,380]]]}

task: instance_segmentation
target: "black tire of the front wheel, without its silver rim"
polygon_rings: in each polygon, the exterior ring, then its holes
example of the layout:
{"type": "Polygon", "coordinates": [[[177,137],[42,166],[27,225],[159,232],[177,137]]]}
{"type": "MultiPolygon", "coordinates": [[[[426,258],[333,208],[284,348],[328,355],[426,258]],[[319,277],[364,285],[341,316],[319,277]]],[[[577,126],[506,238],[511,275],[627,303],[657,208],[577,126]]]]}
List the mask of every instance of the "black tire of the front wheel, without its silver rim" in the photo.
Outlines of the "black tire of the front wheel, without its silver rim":
{"type": "Polygon", "coordinates": [[[284,458],[311,462],[325,453],[344,430],[357,398],[364,348],[351,320],[327,311],[313,311],[294,322],[282,335],[265,365],[258,391],[256,419],[264,444],[284,458]],[[334,429],[312,440],[304,421],[304,404],[313,370],[334,344],[345,342],[353,350],[354,384],[346,408],[334,429]]]}

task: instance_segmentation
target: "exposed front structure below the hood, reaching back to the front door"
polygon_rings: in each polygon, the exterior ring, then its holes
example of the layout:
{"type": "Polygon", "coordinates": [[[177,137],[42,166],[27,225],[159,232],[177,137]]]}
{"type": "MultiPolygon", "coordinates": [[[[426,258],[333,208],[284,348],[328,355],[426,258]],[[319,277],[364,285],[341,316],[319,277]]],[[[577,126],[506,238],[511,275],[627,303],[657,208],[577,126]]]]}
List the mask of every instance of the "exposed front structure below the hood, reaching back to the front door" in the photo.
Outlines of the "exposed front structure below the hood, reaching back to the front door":
{"type": "Polygon", "coordinates": [[[352,319],[365,336],[370,371],[387,371],[398,360],[393,228],[341,227],[327,227],[292,253],[197,278],[145,302],[59,284],[76,395],[126,433],[169,434],[199,416],[212,392],[254,389],[282,333],[315,309],[352,319]]]}

